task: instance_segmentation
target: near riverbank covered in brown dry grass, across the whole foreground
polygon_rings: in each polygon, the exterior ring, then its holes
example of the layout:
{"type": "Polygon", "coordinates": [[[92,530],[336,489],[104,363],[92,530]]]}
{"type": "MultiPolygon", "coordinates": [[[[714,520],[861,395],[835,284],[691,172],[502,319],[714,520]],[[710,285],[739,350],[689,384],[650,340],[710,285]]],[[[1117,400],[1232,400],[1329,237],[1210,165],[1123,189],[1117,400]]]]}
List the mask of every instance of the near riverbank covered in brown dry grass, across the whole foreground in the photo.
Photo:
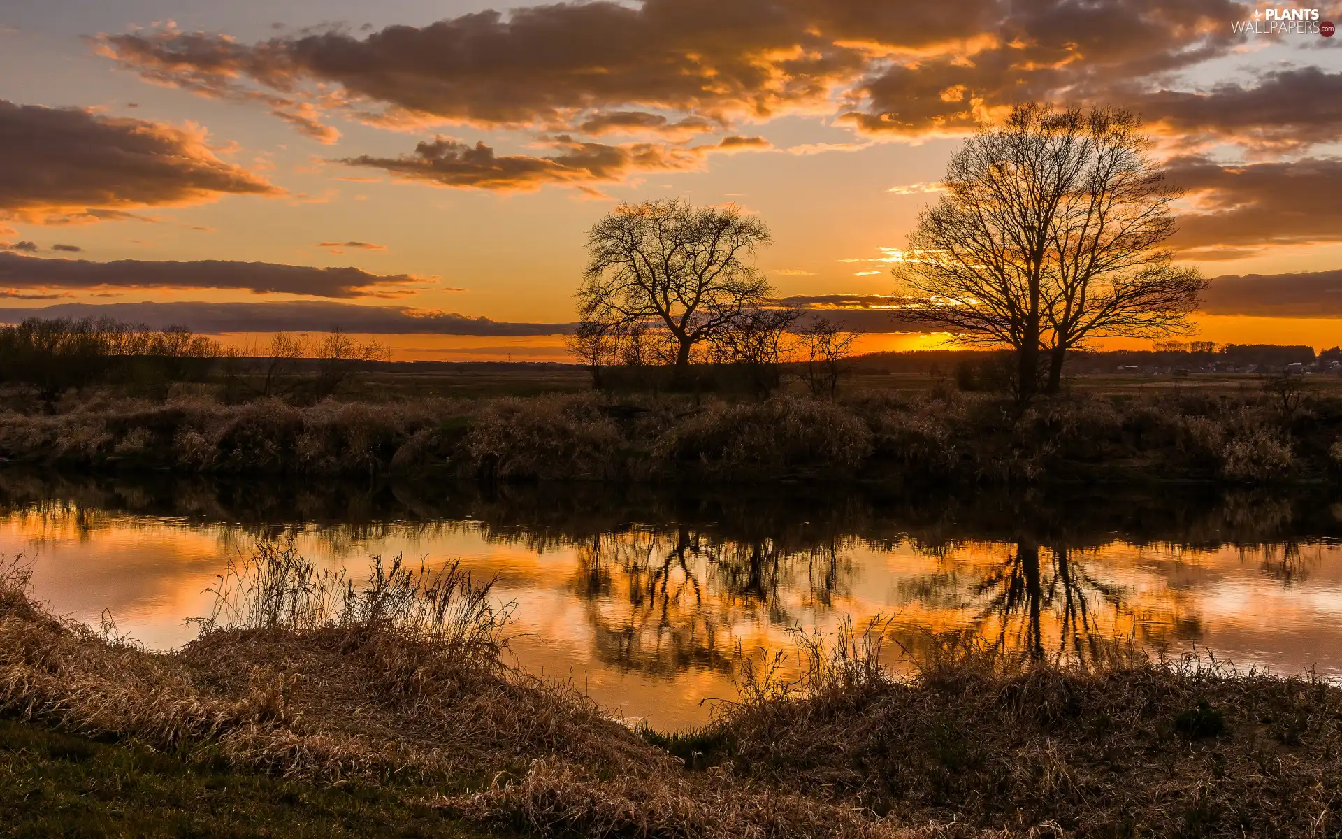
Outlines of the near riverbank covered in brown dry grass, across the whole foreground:
{"type": "MultiPolygon", "coordinates": [[[[943,638],[913,678],[895,679],[876,627],[801,639],[796,682],[746,659],[741,695],[705,729],[640,732],[568,685],[503,664],[507,612],[458,571],[384,565],[366,587],[346,583],[263,552],[221,581],[200,640],[153,652],[111,626],[46,613],[11,566],[0,717],[7,742],[34,745],[0,746],[4,771],[67,804],[89,792],[79,812],[113,824],[140,797],[150,813],[168,801],[162,823],[181,824],[174,796],[191,795],[201,807],[279,808],[318,832],[366,820],[372,835],[403,818],[420,834],[463,836],[1338,828],[1342,690],[1310,678],[1122,648],[1080,670],[943,638]],[[121,767],[118,788],[98,780],[103,767],[121,767]],[[220,784],[239,797],[209,792],[220,784]]],[[[54,823],[27,801],[0,805],[54,823]]],[[[203,832],[248,834],[235,819],[203,832]]]]}

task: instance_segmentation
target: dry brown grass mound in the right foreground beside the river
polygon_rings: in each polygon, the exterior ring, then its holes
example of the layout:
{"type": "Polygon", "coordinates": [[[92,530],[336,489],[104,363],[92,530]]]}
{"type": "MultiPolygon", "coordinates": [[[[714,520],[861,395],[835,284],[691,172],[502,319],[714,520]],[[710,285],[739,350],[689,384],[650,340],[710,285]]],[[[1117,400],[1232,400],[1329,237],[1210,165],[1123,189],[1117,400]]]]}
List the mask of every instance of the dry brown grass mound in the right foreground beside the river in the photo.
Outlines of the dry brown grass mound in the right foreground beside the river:
{"type": "MultiPolygon", "coordinates": [[[[703,742],[757,783],[900,823],[1076,836],[1335,836],[1342,690],[1122,648],[1088,666],[941,639],[913,678],[879,626],[746,673],[703,742]],[[876,631],[871,631],[875,628],[876,631]]],[[[768,660],[766,660],[768,663],[768,660]]],[[[710,761],[713,762],[713,761],[710,761]]]]}

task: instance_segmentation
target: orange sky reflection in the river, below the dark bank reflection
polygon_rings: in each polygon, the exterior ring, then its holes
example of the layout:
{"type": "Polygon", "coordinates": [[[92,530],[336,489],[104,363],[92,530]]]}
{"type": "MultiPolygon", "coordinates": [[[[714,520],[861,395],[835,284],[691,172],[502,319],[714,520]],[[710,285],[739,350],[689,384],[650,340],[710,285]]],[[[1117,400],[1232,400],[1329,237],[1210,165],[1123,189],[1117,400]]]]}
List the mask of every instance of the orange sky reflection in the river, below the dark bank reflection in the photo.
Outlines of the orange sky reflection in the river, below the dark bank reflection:
{"type": "Polygon", "coordinates": [[[47,498],[0,507],[0,553],[35,562],[38,596],[54,611],[97,623],[107,609],[157,648],[193,638],[184,620],[209,613],[215,575],[259,538],[293,540],[318,566],[356,576],[374,554],[460,558],[497,580],[501,603],[515,601],[518,663],[663,728],[701,724],[713,701],[731,698],[739,654],[790,650],[793,630],[876,616],[895,667],[934,636],[969,632],[1037,656],[1102,655],[1118,640],[1342,677],[1342,545],[1326,526],[1198,544],[1002,538],[986,526],[982,538],[938,538],[898,522],[817,533],[773,513],[754,536],[722,521],[565,529],[507,518],[242,522],[47,498]]]}

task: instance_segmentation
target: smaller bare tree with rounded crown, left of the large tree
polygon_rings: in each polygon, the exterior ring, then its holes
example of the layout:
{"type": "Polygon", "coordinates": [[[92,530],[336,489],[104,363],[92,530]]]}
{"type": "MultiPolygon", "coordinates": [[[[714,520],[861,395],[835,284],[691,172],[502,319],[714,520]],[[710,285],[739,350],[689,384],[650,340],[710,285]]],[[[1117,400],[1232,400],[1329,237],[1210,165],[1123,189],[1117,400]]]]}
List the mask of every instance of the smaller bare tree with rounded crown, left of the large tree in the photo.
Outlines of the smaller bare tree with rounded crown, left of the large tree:
{"type": "Polygon", "coordinates": [[[621,204],[588,236],[578,317],[608,330],[664,330],[683,375],[695,346],[766,301],[769,283],[750,258],[769,242],[764,221],[735,207],[621,204]]]}

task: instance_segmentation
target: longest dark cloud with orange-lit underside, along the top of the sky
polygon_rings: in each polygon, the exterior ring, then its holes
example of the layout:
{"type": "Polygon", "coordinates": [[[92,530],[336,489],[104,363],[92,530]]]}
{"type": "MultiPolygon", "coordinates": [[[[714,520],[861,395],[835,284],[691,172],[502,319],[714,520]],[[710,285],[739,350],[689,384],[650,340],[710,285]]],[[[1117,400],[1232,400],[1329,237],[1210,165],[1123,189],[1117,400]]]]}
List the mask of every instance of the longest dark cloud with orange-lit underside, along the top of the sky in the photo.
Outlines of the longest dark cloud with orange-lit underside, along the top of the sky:
{"type": "Polygon", "coordinates": [[[612,124],[597,114],[611,110],[715,122],[823,106],[835,86],[862,75],[874,47],[962,42],[1007,11],[1007,0],[557,3],[366,38],[327,30],[242,44],[158,30],[103,35],[95,46],[153,82],[282,110],[306,95],[384,124],[432,117],[531,126],[570,125],[585,111],[600,130],[612,124]],[[369,103],[384,110],[360,110],[369,103]]]}

